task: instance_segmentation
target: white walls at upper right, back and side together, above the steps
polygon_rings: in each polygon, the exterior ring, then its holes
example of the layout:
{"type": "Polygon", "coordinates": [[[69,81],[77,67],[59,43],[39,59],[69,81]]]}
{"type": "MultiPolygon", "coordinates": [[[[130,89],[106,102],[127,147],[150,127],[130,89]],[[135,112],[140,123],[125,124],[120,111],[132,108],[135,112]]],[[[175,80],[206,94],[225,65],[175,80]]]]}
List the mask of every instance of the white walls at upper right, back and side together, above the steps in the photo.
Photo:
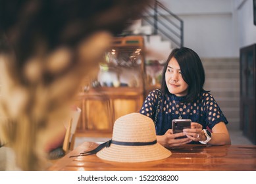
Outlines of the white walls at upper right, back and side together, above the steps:
{"type": "Polygon", "coordinates": [[[253,0],[161,0],[184,20],[184,46],[200,57],[239,57],[239,49],[256,43],[253,0]]]}

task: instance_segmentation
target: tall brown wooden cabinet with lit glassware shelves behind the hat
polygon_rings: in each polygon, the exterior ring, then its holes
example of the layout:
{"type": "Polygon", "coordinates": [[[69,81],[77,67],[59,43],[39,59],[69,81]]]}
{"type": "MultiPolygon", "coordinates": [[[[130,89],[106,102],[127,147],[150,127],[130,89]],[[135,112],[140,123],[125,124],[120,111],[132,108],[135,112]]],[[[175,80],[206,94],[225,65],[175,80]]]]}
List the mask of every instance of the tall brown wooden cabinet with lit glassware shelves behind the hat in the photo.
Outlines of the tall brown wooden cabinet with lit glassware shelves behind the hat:
{"type": "Polygon", "coordinates": [[[117,118],[138,112],[145,96],[144,68],[143,37],[115,37],[97,76],[85,80],[78,94],[82,115],[76,135],[111,135],[117,118]]]}

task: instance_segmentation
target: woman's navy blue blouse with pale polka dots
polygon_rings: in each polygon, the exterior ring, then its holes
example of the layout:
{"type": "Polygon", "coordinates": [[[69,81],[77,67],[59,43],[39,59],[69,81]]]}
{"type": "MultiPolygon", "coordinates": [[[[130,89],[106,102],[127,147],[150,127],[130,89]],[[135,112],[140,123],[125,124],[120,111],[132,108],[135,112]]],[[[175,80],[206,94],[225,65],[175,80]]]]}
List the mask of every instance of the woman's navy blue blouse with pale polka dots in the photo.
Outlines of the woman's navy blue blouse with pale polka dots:
{"type": "Polygon", "coordinates": [[[207,91],[202,91],[192,103],[184,103],[185,97],[176,97],[172,94],[165,97],[161,94],[160,89],[151,91],[140,110],[141,114],[149,116],[155,122],[157,135],[164,135],[172,128],[172,120],[178,119],[179,116],[201,124],[203,129],[212,129],[218,122],[228,124],[213,95],[207,91]],[[159,99],[159,113],[155,120],[159,99]]]}

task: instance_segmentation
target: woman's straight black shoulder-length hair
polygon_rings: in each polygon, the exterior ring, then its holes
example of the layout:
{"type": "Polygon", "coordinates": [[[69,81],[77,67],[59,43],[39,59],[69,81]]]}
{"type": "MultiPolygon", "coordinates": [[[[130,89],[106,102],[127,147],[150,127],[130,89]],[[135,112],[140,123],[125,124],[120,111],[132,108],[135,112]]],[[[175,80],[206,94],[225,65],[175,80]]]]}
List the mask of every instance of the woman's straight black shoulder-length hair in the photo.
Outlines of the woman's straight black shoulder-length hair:
{"type": "Polygon", "coordinates": [[[205,83],[203,64],[197,53],[192,49],[187,47],[173,49],[165,62],[162,72],[161,91],[164,95],[170,94],[165,82],[165,72],[170,59],[173,57],[180,65],[183,80],[188,84],[188,95],[186,95],[184,102],[190,103],[197,98],[201,91],[205,91],[203,89],[205,83]]]}

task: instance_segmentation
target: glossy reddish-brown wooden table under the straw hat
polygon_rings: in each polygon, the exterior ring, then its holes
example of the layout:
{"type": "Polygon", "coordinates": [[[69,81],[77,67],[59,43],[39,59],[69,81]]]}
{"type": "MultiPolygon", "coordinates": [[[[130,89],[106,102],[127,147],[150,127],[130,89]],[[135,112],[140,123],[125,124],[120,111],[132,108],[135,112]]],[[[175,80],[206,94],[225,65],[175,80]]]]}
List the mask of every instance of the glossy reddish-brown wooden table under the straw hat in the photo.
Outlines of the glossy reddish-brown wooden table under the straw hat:
{"type": "Polygon", "coordinates": [[[256,170],[256,146],[243,145],[184,145],[171,150],[172,155],[163,160],[120,163],[110,162],[98,158],[95,154],[90,156],[71,155],[79,154],[85,150],[97,147],[97,143],[85,142],[63,158],[55,162],[49,170],[88,170],[88,171],[168,171],[168,170],[228,170],[245,171],[256,170]]]}

